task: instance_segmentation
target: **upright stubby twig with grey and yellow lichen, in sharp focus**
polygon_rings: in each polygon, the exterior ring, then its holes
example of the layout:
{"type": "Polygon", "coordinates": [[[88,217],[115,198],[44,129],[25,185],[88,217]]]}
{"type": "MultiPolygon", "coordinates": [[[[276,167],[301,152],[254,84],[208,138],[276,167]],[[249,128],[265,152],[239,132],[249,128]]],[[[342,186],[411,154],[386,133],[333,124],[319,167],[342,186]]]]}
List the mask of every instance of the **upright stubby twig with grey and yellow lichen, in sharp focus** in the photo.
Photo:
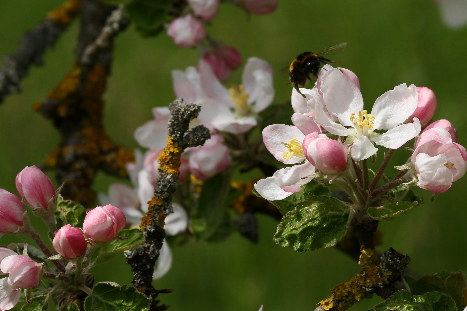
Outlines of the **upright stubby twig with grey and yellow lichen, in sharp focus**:
{"type": "MultiPolygon", "coordinates": [[[[172,194],[176,190],[179,177],[180,157],[185,148],[203,145],[211,136],[204,125],[189,129],[190,121],[198,117],[201,106],[184,104],[177,98],[169,105],[170,118],[168,123],[167,145],[159,154],[159,177],[154,191],[154,197],[149,201],[149,210],[142,218],[141,229],[145,242],[142,249],[131,249],[125,252],[127,263],[133,271],[134,286],[142,293],[154,298],[161,292],[152,286],[152,275],[159,250],[165,238],[164,220],[172,213],[172,194]]],[[[167,306],[151,306],[151,310],[166,310],[167,306]]]]}

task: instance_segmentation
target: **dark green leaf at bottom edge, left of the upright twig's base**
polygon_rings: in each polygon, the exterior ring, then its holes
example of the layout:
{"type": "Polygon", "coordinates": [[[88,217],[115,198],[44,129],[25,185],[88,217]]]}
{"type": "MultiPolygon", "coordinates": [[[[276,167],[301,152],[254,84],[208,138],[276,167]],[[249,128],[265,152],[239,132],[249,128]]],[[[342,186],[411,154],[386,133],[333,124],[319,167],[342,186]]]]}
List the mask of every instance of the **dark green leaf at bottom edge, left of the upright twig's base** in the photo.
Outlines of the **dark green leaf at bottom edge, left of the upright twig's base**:
{"type": "Polygon", "coordinates": [[[92,291],[85,300],[85,311],[147,311],[151,305],[134,286],[102,282],[94,285],[92,291]]]}

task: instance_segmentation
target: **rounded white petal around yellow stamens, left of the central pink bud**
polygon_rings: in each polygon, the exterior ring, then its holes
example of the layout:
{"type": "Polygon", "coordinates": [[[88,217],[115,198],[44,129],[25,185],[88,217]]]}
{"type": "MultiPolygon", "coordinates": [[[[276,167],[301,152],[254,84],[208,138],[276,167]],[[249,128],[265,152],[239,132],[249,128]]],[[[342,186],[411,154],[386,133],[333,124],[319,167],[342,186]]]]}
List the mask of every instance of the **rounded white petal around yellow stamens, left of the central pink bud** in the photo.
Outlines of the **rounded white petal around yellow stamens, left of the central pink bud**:
{"type": "Polygon", "coordinates": [[[262,137],[264,145],[278,161],[287,164],[303,162],[304,159],[289,159],[287,161],[283,157],[287,148],[281,143],[289,143],[292,138],[297,138],[298,141],[303,142],[305,138],[305,135],[296,126],[285,124],[268,125],[262,131],[262,137]]]}

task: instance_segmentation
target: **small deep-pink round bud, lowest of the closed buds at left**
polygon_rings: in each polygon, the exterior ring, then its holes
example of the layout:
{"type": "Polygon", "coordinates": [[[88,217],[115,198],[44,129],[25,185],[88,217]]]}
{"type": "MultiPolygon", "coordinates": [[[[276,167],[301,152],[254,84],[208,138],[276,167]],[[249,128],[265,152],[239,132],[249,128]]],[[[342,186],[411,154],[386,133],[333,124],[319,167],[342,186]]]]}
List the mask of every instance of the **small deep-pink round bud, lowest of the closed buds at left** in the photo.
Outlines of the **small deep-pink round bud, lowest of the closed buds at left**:
{"type": "Polygon", "coordinates": [[[83,231],[71,225],[64,225],[60,228],[52,244],[58,254],[68,259],[83,255],[87,246],[83,231]]]}

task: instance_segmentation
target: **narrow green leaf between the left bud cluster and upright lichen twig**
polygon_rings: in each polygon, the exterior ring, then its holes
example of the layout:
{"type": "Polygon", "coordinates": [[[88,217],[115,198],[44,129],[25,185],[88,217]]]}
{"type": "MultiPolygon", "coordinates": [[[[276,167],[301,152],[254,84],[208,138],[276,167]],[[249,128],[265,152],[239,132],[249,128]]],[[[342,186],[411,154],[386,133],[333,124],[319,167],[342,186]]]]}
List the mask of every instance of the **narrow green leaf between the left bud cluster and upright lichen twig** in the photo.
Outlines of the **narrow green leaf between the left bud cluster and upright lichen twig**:
{"type": "Polygon", "coordinates": [[[112,241],[99,246],[92,253],[91,258],[89,259],[90,264],[96,265],[98,263],[105,263],[115,257],[118,253],[124,250],[133,249],[144,242],[144,235],[140,229],[121,230],[118,233],[118,236],[127,239],[119,240],[115,238],[112,241]]]}

